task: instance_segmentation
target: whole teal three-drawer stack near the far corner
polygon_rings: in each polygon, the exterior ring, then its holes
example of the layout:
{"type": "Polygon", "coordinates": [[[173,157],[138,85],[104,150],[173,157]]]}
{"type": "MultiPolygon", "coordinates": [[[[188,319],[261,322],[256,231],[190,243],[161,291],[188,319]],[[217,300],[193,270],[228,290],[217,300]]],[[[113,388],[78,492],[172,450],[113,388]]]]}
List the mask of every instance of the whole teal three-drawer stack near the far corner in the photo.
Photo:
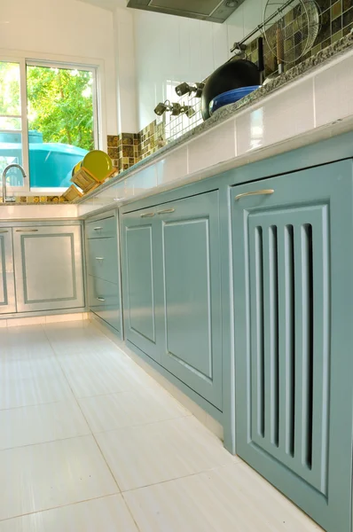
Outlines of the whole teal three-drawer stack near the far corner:
{"type": "Polygon", "coordinates": [[[89,308],[122,334],[116,211],[86,222],[86,238],[89,308]]]}

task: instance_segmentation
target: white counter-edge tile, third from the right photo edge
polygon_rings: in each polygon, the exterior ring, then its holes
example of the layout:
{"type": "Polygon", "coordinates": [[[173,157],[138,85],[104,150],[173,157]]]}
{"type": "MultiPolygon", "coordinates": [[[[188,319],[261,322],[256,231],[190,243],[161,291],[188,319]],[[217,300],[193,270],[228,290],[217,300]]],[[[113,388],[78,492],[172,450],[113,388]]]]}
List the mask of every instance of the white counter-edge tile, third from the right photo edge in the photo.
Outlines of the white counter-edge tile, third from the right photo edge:
{"type": "Polygon", "coordinates": [[[189,173],[235,157],[235,121],[227,121],[189,145],[189,173]]]}

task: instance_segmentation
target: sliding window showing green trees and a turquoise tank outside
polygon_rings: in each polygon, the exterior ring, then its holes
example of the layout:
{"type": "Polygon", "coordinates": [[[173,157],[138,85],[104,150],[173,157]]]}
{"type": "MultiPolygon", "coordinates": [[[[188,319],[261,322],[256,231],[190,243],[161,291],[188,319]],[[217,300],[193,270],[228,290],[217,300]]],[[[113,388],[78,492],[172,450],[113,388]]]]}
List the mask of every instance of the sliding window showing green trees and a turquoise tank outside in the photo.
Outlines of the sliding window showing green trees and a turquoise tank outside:
{"type": "Polygon", "coordinates": [[[0,172],[15,191],[65,190],[98,147],[95,67],[0,60],[0,172]]]}

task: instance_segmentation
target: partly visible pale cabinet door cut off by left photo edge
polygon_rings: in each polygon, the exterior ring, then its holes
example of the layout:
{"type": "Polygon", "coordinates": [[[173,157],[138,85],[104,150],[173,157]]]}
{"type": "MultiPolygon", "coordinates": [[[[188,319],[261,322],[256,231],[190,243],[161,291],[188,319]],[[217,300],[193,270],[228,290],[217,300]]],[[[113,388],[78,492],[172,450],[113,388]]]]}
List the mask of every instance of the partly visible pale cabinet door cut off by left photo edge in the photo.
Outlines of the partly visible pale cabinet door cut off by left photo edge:
{"type": "Polygon", "coordinates": [[[12,229],[0,228],[0,314],[16,312],[12,229]]]}

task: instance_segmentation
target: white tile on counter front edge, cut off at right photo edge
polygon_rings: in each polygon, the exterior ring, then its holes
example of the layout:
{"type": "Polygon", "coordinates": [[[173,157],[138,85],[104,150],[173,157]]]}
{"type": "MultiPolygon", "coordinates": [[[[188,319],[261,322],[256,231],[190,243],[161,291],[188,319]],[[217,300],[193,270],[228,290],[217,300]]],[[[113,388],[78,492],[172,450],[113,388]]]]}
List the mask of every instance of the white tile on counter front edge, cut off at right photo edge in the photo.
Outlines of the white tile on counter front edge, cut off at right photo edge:
{"type": "Polygon", "coordinates": [[[318,73],[314,84],[317,127],[353,114],[353,55],[318,73]]]}

